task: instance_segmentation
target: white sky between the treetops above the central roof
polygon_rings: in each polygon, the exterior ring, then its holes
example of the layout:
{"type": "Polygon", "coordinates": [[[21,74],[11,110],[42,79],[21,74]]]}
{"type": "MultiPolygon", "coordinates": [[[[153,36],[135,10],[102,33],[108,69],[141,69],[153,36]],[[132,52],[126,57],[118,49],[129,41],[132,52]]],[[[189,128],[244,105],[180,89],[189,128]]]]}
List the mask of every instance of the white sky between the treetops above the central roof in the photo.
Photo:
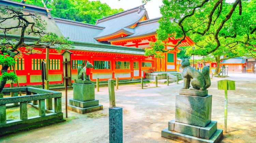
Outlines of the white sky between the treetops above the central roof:
{"type": "MultiPolygon", "coordinates": [[[[96,1],[96,0],[90,0],[96,1]]],[[[235,0],[226,0],[226,2],[234,2],[235,0]]],[[[141,0],[100,0],[101,3],[108,4],[112,9],[123,8],[124,10],[132,9],[133,7],[140,6],[142,4],[141,0]]],[[[145,8],[150,19],[161,17],[159,6],[162,5],[162,0],[151,0],[147,2],[145,8]]]]}

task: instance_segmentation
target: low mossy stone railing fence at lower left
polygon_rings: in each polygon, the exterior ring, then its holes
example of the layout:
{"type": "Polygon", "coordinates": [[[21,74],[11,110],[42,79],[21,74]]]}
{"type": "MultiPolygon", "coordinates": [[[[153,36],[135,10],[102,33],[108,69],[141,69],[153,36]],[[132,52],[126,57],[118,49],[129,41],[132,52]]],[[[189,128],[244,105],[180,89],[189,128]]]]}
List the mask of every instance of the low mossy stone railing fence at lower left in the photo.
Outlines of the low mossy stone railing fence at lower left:
{"type": "Polygon", "coordinates": [[[0,98],[0,136],[3,134],[29,128],[32,125],[55,123],[63,120],[61,111],[61,93],[33,87],[3,89],[1,93],[26,92],[24,96],[0,98]],[[54,110],[45,109],[45,99],[54,98],[54,110]],[[27,104],[33,101],[38,107],[38,116],[28,117],[27,104]],[[19,103],[20,119],[6,121],[6,105],[19,103]]]}

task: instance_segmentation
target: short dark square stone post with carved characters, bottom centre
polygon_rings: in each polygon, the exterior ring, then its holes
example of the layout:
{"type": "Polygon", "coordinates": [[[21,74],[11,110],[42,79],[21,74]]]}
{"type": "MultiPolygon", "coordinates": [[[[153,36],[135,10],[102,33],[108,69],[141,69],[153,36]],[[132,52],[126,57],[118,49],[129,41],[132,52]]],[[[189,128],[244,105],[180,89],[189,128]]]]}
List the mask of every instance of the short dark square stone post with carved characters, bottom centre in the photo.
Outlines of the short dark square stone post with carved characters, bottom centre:
{"type": "Polygon", "coordinates": [[[123,143],[123,108],[109,108],[109,142],[123,143]]]}

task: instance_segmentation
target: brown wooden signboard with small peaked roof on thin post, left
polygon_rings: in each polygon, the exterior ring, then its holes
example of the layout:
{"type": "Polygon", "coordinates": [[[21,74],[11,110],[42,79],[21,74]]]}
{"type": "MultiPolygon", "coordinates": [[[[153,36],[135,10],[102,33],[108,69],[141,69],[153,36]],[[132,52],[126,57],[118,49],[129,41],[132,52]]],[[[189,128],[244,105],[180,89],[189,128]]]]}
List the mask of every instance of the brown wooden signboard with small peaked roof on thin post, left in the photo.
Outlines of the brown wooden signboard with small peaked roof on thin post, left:
{"type": "Polygon", "coordinates": [[[61,55],[63,56],[63,83],[66,94],[66,118],[68,117],[68,86],[72,86],[71,82],[71,54],[72,52],[66,50],[61,55]]]}

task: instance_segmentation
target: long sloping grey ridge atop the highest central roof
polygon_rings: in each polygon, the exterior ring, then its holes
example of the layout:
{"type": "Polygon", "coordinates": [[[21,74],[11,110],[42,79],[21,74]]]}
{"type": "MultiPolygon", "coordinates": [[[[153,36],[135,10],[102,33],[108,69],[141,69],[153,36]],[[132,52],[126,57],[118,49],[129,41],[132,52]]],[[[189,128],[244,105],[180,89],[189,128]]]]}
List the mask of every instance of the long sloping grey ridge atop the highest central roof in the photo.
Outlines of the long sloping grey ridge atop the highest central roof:
{"type": "MultiPolygon", "coordinates": [[[[140,13],[141,10],[145,10],[144,5],[145,4],[142,4],[140,6],[132,8],[132,9],[128,9],[126,11],[122,11],[122,12],[119,12],[119,13],[116,13],[116,14],[113,14],[113,15],[110,15],[110,16],[107,16],[107,17],[103,17],[101,19],[97,19],[96,25],[98,23],[101,23],[101,22],[104,22],[104,21],[107,21],[107,20],[110,20],[110,19],[113,19],[113,18],[117,18],[117,17],[120,17],[120,16],[124,16],[124,15],[130,14],[130,13],[134,13],[134,12],[140,13]]],[[[146,15],[146,17],[148,18],[148,15],[146,15]]]]}

